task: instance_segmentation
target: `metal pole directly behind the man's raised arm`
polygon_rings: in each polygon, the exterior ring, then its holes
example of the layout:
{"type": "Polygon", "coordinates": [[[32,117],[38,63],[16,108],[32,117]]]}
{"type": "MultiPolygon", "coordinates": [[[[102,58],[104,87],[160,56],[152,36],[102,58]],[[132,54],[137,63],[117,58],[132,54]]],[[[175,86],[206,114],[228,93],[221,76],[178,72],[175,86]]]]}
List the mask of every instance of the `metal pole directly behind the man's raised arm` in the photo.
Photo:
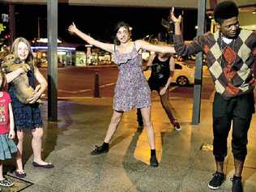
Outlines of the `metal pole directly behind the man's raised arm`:
{"type": "MultiPolygon", "coordinates": [[[[197,36],[202,36],[204,33],[205,15],[206,15],[206,0],[198,1],[198,31],[197,36]]],[[[195,71],[194,71],[194,104],[192,125],[198,125],[200,122],[201,109],[201,90],[202,90],[202,73],[203,73],[203,53],[196,55],[195,71]]]]}

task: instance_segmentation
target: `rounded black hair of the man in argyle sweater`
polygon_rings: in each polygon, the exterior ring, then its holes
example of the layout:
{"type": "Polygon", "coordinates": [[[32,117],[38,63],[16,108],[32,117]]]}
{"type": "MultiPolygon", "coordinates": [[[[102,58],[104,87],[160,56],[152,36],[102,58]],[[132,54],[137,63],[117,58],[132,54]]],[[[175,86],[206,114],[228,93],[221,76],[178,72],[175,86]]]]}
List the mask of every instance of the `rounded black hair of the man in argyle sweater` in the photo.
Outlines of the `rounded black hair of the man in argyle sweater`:
{"type": "Polygon", "coordinates": [[[216,23],[223,23],[225,19],[230,19],[238,16],[237,4],[233,1],[220,2],[215,6],[214,19],[216,23]]]}

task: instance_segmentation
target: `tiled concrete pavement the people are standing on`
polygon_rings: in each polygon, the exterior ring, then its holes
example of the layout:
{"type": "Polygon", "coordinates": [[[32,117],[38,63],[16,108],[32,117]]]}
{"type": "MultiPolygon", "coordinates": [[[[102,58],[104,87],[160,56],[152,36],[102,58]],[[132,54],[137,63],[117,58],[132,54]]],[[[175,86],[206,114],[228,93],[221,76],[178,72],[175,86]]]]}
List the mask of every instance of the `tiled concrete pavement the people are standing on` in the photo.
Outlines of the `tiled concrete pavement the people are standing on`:
{"type": "MultiPolygon", "coordinates": [[[[201,122],[191,126],[190,98],[169,98],[181,131],[173,129],[160,105],[152,100],[152,122],[156,131],[156,152],[159,168],[148,166],[150,148],[145,130],[138,131],[136,111],[125,113],[113,137],[109,153],[90,156],[95,144],[100,145],[112,115],[112,98],[81,98],[58,101],[58,123],[46,122],[47,105],[41,105],[45,120],[42,154],[53,162],[54,169],[34,169],[31,135],[24,145],[25,181],[33,185],[23,191],[117,191],[117,192],[208,192],[207,183],[215,172],[211,151],[201,150],[211,144],[211,100],[202,100],[201,122]]],[[[245,192],[256,189],[256,117],[249,134],[248,156],[243,181],[245,192]]],[[[10,165],[11,166],[11,165],[10,165]]],[[[215,191],[230,191],[233,176],[233,156],[228,145],[225,161],[227,180],[215,191]]],[[[11,171],[8,175],[12,176],[11,171]]],[[[22,188],[19,188],[22,189],[22,188]]],[[[17,191],[6,190],[4,191],[17,191]]]]}

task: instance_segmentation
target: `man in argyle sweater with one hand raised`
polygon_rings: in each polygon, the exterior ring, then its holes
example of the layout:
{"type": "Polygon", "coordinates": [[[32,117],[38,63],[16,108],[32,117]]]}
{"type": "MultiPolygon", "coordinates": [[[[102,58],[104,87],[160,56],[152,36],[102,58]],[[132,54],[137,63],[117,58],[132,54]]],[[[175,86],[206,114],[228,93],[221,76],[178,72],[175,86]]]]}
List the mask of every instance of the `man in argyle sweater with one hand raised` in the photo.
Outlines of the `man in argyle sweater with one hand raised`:
{"type": "Polygon", "coordinates": [[[241,173],[247,154],[247,133],[254,113],[256,84],[256,32],[239,28],[238,8],[233,1],[220,2],[214,11],[218,31],[197,36],[190,44],[181,37],[181,16],[176,18],[173,37],[176,52],[185,56],[203,52],[215,83],[213,102],[213,155],[216,172],[208,184],[218,189],[224,181],[224,158],[227,156],[228,132],[233,122],[232,149],[235,173],[232,192],[242,192],[241,173]]]}

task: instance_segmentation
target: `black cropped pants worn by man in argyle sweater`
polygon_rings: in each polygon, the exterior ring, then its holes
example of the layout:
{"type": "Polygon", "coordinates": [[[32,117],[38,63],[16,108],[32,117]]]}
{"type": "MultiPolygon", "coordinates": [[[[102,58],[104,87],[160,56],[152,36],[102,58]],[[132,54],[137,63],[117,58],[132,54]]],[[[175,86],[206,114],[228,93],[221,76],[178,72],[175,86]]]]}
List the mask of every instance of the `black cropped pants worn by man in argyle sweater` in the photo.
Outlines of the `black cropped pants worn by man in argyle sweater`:
{"type": "Polygon", "coordinates": [[[237,160],[245,160],[247,133],[254,113],[254,94],[248,93],[225,100],[215,93],[213,103],[213,155],[224,161],[227,156],[228,133],[233,122],[232,151],[237,160]]]}

